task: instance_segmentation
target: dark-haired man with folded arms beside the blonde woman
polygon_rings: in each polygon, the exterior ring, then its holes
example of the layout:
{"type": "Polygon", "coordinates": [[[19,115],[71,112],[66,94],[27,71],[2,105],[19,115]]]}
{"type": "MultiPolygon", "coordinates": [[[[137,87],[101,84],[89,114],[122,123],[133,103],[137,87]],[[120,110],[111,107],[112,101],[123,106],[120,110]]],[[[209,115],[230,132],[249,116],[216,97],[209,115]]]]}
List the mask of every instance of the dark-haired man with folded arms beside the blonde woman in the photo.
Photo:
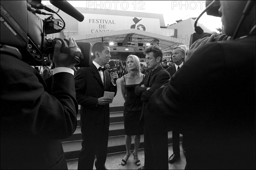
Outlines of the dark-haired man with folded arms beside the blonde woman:
{"type": "MultiPolygon", "coordinates": [[[[144,122],[145,164],[142,169],[168,169],[168,134],[162,119],[152,119],[148,111],[148,99],[158,88],[168,81],[170,74],[161,65],[163,51],[156,45],[145,49],[146,64],[151,71],[135,87],[135,94],[143,101],[140,120],[144,122]]],[[[157,112],[152,113],[157,114],[157,112]]]]}

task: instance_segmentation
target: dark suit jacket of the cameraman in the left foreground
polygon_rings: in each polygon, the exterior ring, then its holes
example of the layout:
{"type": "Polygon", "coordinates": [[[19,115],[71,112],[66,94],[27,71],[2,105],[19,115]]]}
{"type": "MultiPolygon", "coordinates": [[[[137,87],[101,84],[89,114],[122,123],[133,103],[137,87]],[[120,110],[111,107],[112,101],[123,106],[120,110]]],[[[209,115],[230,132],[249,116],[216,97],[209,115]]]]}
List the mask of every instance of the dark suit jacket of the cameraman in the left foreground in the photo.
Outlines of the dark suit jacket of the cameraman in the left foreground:
{"type": "Polygon", "coordinates": [[[47,88],[38,71],[6,54],[0,74],[1,169],[67,169],[58,139],[76,130],[73,75],[55,74],[47,88]]]}

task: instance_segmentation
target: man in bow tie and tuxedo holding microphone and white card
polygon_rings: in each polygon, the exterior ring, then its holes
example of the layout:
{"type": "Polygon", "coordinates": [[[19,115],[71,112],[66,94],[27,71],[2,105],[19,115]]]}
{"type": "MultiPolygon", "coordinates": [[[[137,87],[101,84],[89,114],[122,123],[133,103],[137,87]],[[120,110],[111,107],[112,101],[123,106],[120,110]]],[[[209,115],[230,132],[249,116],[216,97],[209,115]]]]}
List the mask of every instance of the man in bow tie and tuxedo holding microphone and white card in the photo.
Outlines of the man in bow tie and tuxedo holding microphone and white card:
{"type": "Polygon", "coordinates": [[[96,169],[106,169],[108,149],[109,103],[113,99],[104,97],[104,91],[115,92],[117,87],[115,72],[108,73],[103,68],[111,55],[104,42],[96,42],[92,48],[93,63],[90,67],[76,71],[76,99],[81,105],[82,149],[79,154],[78,169],[93,169],[96,153],[96,169]]]}

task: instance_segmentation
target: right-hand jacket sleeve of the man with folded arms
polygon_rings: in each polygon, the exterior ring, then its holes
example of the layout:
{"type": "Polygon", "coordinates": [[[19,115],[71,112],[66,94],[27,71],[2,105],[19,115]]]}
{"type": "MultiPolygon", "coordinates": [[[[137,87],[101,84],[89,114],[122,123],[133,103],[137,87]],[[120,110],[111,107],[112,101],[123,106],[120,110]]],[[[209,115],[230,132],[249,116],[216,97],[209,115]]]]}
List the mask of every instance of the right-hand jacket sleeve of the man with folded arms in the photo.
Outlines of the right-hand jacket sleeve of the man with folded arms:
{"type": "Polygon", "coordinates": [[[164,82],[168,81],[170,78],[170,74],[166,71],[159,71],[157,73],[157,77],[155,78],[155,81],[153,85],[150,87],[148,91],[144,91],[141,95],[141,100],[144,102],[148,102],[149,98],[152,96],[154,91],[156,91],[158,88],[160,88],[164,82]]]}

